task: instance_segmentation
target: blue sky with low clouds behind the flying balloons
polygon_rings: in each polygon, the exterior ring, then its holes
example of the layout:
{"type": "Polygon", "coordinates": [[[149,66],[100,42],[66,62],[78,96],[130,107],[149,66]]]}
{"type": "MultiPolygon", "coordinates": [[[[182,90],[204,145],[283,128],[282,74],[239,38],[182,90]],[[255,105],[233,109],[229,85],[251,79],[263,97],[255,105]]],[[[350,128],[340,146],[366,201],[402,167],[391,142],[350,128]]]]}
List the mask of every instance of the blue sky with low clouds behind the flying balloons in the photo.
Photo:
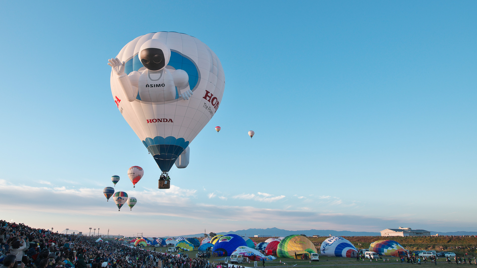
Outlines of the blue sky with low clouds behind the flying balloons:
{"type": "Polygon", "coordinates": [[[5,2],[2,217],[157,236],[477,231],[476,13],[475,1],[5,2]],[[226,77],[167,191],[107,65],[156,31],[197,37],[226,77]],[[145,169],[134,189],[132,165],[145,169]],[[111,175],[133,211],[105,202],[111,175]]]}

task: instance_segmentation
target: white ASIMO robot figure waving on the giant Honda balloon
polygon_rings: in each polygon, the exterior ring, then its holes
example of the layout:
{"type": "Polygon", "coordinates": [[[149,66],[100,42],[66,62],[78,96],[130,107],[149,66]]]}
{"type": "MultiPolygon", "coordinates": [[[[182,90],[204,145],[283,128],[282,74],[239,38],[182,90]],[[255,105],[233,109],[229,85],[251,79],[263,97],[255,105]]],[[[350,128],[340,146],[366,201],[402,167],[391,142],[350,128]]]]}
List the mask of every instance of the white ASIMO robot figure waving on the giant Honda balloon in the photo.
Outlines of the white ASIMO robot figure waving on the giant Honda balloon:
{"type": "Polygon", "coordinates": [[[128,101],[134,101],[138,93],[141,101],[145,102],[173,101],[176,99],[176,87],[179,97],[183,100],[190,98],[192,91],[187,72],[166,68],[171,57],[171,51],[166,44],[158,39],[145,41],[139,49],[138,57],[146,69],[129,74],[124,73],[124,62],[118,58],[108,60],[108,65],[113,69],[113,75],[118,79],[128,101]]]}

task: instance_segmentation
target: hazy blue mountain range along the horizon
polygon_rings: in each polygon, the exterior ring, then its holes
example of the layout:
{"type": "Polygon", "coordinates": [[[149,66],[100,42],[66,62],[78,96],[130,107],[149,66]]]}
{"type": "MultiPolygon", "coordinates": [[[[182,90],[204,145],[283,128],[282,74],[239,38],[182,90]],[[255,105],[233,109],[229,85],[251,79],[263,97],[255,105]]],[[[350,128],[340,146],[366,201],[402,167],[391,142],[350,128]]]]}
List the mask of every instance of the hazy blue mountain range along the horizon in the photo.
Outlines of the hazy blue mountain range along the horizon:
{"type": "MultiPolygon", "coordinates": [[[[340,236],[340,237],[379,237],[381,233],[379,232],[353,232],[353,231],[336,231],[336,230],[298,230],[298,231],[290,231],[279,229],[276,227],[267,228],[267,229],[246,229],[246,230],[238,230],[238,231],[229,231],[229,232],[220,232],[217,233],[218,235],[226,235],[226,234],[236,234],[248,237],[254,237],[255,235],[259,235],[260,237],[286,237],[289,235],[306,235],[308,237],[317,235],[320,237],[328,237],[332,236],[340,236]]],[[[443,236],[474,236],[477,235],[477,232],[435,232],[431,231],[431,235],[443,235],[443,236]]],[[[195,235],[187,235],[182,237],[202,237],[204,236],[203,233],[195,234],[195,235]]]]}

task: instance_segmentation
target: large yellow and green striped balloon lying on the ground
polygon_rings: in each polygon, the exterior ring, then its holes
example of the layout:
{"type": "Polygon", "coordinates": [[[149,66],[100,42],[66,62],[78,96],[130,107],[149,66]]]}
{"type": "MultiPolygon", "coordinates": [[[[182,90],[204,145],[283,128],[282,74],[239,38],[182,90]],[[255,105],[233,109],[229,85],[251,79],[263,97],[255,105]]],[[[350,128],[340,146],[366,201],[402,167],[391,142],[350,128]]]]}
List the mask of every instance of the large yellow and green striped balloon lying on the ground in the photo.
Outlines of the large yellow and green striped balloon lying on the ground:
{"type": "Polygon", "coordinates": [[[306,237],[300,235],[291,235],[281,240],[277,247],[277,257],[295,258],[297,256],[311,253],[318,253],[315,245],[306,237]]]}

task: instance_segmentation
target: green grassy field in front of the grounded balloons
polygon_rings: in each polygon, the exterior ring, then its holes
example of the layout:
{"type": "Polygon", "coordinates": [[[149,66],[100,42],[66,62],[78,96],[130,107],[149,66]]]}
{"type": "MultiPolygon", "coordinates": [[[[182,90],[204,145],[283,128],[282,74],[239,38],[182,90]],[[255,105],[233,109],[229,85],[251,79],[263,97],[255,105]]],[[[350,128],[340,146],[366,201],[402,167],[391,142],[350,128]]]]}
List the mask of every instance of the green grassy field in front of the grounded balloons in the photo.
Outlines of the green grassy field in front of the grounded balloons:
{"type": "MultiPolygon", "coordinates": [[[[156,251],[159,251],[159,248],[162,249],[162,252],[165,250],[167,251],[167,247],[156,247],[156,251]]],[[[149,249],[149,247],[146,247],[146,249],[149,249]]],[[[154,250],[154,247],[150,247],[151,250],[154,250]]],[[[173,253],[176,254],[177,252],[173,253]]],[[[198,253],[197,250],[194,251],[188,251],[185,252],[190,258],[195,258],[196,254],[198,253]]],[[[306,266],[307,268],[313,268],[313,267],[328,267],[328,266],[358,266],[360,268],[384,268],[384,266],[391,266],[392,268],[399,268],[401,266],[406,266],[408,267],[411,265],[410,263],[401,263],[401,261],[396,261],[396,257],[388,257],[379,260],[373,260],[370,261],[364,260],[364,261],[356,261],[356,258],[340,258],[340,257],[326,257],[326,256],[320,256],[320,261],[314,261],[311,262],[309,260],[301,260],[301,259],[290,259],[290,258],[277,258],[277,260],[274,261],[267,261],[265,262],[265,268],[293,268],[294,265],[295,267],[304,267],[306,266]],[[280,263],[281,260],[281,263],[280,263]],[[287,266],[288,264],[288,266],[287,266]]],[[[216,257],[216,258],[209,258],[209,260],[212,262],[224,262],[224,257],[216,257]]],[[[437,260],[437,265],[431,264],[430,262],[427,263],[422,263],[422,267],[420,268],[433,268],[433,267],[454,267],[456,263],[450,263],[448,264],[446,262],[446,258],[439,258],[437,260]]],[[[467,264],[468,265],[468,264],[467,264]]],[[[237,266],[237,265],[235,265],[237,266]]],[[[240,264],[242,266],[242,264],[240,264]]],[[[245,267],[253,267],[253,261],[249,263],[244,263],[243,266],[245,267]]],[[[262,263],[259,262],[259,268],[263,267],[262,263]]]]}

